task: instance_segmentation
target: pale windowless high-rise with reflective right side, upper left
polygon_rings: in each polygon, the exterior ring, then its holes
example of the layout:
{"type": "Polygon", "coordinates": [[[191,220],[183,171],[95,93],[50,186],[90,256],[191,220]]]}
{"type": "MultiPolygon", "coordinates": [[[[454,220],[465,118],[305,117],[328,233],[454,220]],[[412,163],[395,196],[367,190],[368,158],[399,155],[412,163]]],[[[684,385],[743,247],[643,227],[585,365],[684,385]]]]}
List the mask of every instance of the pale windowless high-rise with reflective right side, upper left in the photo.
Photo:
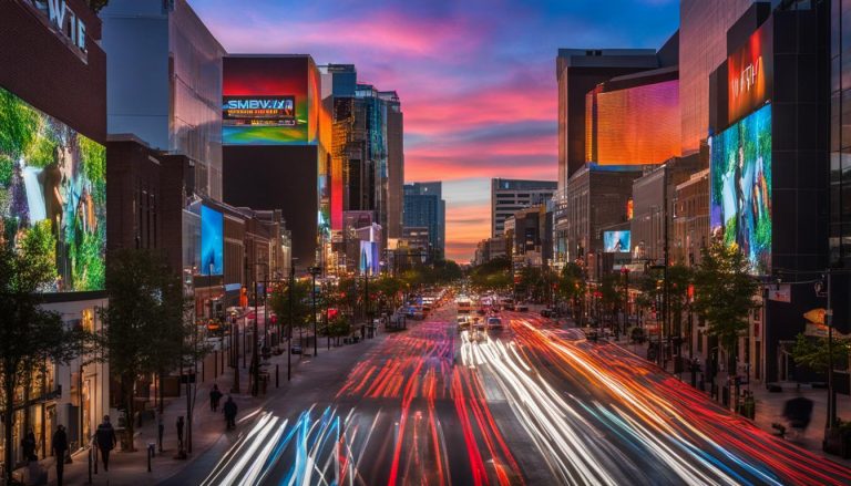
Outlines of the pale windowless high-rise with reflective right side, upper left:
{"type": "Polygon", "coordinates": [[[186,0],[114,0],[101,11],[107,130],[184,154],[195,190],[222,200],[222,58],[186,0]]]}

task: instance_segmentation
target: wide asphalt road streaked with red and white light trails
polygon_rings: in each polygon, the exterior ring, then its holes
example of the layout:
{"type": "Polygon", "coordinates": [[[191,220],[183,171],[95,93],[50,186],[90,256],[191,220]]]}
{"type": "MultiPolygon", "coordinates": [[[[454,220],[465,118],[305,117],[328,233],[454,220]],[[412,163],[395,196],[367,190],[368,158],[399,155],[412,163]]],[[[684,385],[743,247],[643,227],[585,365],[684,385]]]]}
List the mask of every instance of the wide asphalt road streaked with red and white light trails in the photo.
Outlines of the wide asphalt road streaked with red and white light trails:
{"type": "Polygon", "coordinates": [[[167,484],[851,484],[615,345],[454,321],[316,359],[167,484]]]}

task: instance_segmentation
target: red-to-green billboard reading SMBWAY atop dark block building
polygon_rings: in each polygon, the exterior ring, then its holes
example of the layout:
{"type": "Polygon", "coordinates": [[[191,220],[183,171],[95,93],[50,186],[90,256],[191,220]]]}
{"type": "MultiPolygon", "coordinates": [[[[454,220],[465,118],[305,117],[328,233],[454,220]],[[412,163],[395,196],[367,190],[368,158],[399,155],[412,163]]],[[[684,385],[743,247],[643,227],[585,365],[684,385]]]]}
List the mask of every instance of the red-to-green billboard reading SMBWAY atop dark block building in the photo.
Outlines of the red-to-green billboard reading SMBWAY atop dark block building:
{"type": "Polygon", "coordinates": [[[309,56],[237,55],[223,63],[222,143],[316,143],[316,66],[309,56]]]}

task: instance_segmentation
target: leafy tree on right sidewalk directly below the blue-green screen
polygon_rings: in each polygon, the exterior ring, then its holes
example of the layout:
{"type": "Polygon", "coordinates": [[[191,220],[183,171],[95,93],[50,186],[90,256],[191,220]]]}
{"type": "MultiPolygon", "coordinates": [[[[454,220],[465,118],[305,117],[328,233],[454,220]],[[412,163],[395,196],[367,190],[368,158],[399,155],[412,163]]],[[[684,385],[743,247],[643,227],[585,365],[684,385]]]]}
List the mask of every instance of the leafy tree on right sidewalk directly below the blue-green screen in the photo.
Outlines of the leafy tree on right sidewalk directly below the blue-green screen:
{"type": "Polygon", "coordinates": [[[714,242],[703,249],[703,260],[694,276],[695,312],[709,325],[730,359],[735,360],[739,334],[748,329],[748,314],[759,304],[753,296],[759,283],[749,275],[750,265],[736,246],[714,242]]]}

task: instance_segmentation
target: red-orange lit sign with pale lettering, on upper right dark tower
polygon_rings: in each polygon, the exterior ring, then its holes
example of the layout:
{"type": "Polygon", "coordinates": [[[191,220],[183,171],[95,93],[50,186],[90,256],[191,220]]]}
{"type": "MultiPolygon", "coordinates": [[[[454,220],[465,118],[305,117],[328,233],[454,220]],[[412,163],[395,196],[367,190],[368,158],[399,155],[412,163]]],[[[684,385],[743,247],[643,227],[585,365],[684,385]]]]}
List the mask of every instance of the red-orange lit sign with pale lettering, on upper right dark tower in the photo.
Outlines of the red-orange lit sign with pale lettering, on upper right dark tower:
{"type": "Polygon", "coordinates": [[[730,124],[771,97],[772,29],[772,22],[767,21],[741,49],[727,58],[727,113],[730,124]]]}

